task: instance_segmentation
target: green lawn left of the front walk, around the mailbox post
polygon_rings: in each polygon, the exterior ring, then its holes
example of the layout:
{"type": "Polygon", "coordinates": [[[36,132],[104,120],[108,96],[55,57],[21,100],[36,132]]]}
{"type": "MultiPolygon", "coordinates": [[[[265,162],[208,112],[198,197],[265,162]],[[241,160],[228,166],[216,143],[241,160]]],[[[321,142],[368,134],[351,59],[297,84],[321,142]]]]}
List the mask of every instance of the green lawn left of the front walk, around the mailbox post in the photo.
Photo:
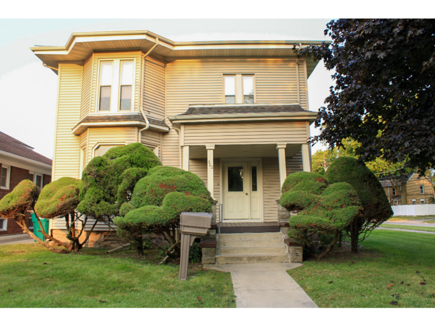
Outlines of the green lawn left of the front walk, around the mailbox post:
{"type": "Polygon", "coordinates": [[[127,251],[56,254],[38,244],[0,246],[0,307],[235,307],[230,273],[146,263],[127,251]]]}

